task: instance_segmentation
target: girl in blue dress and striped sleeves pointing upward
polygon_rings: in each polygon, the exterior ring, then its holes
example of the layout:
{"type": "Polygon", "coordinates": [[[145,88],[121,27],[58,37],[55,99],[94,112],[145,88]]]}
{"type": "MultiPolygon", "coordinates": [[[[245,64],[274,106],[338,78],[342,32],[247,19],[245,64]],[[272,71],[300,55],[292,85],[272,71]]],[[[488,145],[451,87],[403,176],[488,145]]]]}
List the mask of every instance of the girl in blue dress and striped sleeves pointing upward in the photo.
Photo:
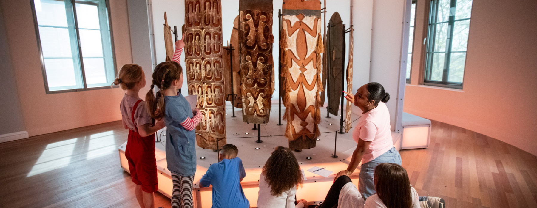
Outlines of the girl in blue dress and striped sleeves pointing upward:
{"type": "Polygon", "coordinates": [[[185,43],[181,39],[175,45],[172,60],[155,67],[146,101],[151,117],[164,118],[166,124],[166,161],[173,183],[171,207],[194,207],[192,197],[196,172],[194,128],[201,120],[201,112],[198,109],[191,110],[190,103],[177,92],[183,86],[183,68],[179,65],[179,60],[185,43]],[[159,89],[156,97],[153,94],[155,86],[159,89]]]}

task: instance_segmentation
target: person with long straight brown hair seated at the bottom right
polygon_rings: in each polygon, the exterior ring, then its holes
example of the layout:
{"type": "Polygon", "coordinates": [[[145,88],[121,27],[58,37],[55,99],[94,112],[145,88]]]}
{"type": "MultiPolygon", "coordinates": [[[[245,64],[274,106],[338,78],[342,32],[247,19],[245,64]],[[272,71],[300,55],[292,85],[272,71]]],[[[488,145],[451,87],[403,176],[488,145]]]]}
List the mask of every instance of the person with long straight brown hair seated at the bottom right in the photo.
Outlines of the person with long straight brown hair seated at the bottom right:
{"type": "Polygon", "coordinates": [[[418,193],[401,165],[381,163],[373,177],[376,194],[367,198],[365,208],[419,208],[418,193]]]}

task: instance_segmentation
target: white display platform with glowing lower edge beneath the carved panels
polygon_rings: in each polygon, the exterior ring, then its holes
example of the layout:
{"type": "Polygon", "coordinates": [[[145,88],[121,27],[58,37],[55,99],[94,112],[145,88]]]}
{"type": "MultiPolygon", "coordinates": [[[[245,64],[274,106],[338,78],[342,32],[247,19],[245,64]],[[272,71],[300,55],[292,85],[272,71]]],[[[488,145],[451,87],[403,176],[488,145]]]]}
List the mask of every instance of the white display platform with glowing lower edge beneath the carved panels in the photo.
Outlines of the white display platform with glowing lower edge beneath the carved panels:
{"type": "MultiPolygon", "coordinates": [[[[237,116],[235,118],[231,118],[231,110],[231,104],[229,103],[226,107],[227,143],[234,144],[238,148],[237,157],[242,159],[246,171],[246,177],[241,182],[241,185],[246,198],[250,201],[250,206],[256,207],[257,192],[259,190],[259,175],[261,174],[265,161],[270,157],[272,150],[275,147],[288,147],[287,138],[282,136],[285,132],[286,121],[282,121],[282,124],[284,125],[277,125],[278,104],[272,104],[269,123],[260,125],[260,135],[263,136],[260,139],[263,142],[257,143],[258,130],[252,130],[254,127],[253,124],[246,124],[243,122],[241,109],[235,109],[235,115],[237,116]]],[[[285,107],[282,106],[282,113],[284,111],[285,107]]],[[[321,107],[321,112],[322,114],[325,114],[326,108],[321,107]]],[[[353,114],[352,119],[354,122],[352,122],[352,125],[356,125],[357,122],[355,120],[358,118],[358,115],[353,114]]],[[[326,170],[333,171],[334,173],[347,168],[357,143],[352,139],[352,130],[345,134],[336,133],[340,128],[339,119],[339,116],[325,118],[325,116],[322,115],[322,120],[319,124],[319,129],[322,134],[318,137],[316,147],[312,149],[304,149],[301,152],[294,152],[307,179],[303,181],[303,187],[296,191],[297,199],[303,198],[310,202],[310,204],[318,204],[318,202],[324,200],[326,193],[332,185],[334,175],[324,178],[323,176],[308,172],[307,170],[309,168],[314,166],[320,168],[325,167],[326,170]],[[334,147],[336,147],[337,158],[332,157],[334,155],[334,147]]],[[[161,138],[161,142],[156,143],[155,151],[158,170],[158,191],[171,198],[172,180],[170,171],[167,169],[166,154],[164,151],[165,130],[160,130],[157,136],[161,138]]],[[[392,133],[392,137],[395,144],[400,143],[400,133],[392,133]]],[[[121,168],[129,172],[127,159],[125,158],[126,144],[127,142],[121,144],[119,147],[119,156],[121,159],[121,168]]],[[[198,182],[201,179],[201,176],[207,171],[209,165],[218,162],[217,152],[197,147],[196,154],[198,158],[197,171],[195,173],[194,188],[192,190],[195,207],[211,207],[212,188],[199,188],[198,182]]],[[[359,169],[354,171],[350,176],[356,186],[358,186],[358,174],[359,169]]]]}

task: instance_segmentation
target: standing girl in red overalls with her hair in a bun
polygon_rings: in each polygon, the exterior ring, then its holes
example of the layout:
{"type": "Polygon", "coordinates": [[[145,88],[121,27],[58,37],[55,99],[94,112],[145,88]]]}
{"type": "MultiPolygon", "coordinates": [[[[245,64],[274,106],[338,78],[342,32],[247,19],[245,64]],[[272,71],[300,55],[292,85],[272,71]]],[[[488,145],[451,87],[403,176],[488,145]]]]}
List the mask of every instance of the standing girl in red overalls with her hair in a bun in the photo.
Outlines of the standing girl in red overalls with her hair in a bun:
{"type": "Polygon", "coordinates": [[[155,207],[154,192],[158,189],[157,164],[155,159],[155,132],[164,128],[164,121],[150,117],[145,102],[138,93],[146,86],[142,67],[126,64],[121,67],[115,85],[126,90],[121,100],[121,120],[129,129],[125,156],[130,176],[136,184],[135,195],[140,207],[155,207]]]}

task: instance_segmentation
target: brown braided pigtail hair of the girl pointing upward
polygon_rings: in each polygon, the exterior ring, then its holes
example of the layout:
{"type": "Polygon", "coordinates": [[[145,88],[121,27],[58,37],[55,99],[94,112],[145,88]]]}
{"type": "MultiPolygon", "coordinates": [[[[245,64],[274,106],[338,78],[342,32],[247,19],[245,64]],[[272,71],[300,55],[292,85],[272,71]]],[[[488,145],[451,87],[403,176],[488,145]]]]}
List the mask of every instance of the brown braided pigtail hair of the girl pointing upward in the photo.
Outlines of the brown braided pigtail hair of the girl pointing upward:
{"type": "Polygon", "coordinates": [[[175,61],[164,61],[158,64],[153,71],[151,88],[146,94],[146,104],[149,115],[156,120],[164,117],[164,90],[171,86],[174,80],[178,80],[183,74],[183,68],[175,61]],[[157,87],[156,97],[153,88],[157,87]]]}

